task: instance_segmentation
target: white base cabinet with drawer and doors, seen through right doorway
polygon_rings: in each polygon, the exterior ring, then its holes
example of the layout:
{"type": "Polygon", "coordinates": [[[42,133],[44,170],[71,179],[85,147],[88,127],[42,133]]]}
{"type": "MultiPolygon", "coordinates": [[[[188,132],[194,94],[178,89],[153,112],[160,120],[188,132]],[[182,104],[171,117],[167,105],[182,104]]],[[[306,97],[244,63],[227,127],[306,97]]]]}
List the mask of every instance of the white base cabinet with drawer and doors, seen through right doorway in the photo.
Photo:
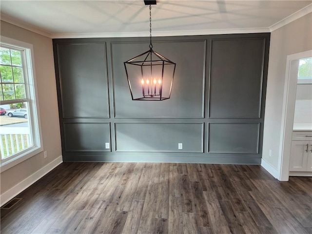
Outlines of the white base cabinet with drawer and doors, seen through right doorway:
{"type": "Polygon", "coordinates": [[[312,132],[293,132],[289,170],[312,172],[312,132]]]}

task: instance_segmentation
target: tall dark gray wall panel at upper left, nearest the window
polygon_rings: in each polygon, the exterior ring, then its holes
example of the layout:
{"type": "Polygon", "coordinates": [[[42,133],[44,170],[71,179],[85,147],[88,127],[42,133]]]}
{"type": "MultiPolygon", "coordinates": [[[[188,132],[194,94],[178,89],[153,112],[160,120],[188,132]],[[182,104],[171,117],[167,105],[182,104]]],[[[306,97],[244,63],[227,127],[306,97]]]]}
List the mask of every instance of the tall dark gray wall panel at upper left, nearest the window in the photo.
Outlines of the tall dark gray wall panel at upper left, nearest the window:
{"type": "Polygon", "coordinates": [[[109,117],[105,43],[59,43],[64,118],[109,117]]]}

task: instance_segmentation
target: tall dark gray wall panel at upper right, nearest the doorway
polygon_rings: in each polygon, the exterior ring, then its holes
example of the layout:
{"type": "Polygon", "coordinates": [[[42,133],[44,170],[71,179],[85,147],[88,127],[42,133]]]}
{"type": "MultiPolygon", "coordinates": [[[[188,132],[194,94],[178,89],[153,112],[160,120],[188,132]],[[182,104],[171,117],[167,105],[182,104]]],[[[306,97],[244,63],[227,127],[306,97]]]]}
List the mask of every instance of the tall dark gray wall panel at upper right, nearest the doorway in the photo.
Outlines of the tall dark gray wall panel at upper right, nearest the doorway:
{"type": "Polygon", "coordinates": [[[214,39],[209,117],[260,117],[264,39],[214,39]]]}

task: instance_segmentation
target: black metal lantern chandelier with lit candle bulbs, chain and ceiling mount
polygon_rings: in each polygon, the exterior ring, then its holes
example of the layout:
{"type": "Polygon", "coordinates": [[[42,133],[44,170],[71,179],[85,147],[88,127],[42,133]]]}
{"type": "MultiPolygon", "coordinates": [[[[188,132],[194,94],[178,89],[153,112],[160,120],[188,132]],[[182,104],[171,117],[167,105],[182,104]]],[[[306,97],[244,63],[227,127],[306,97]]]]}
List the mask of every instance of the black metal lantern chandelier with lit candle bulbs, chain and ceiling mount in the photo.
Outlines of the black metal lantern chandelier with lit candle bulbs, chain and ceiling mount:
{"type": "Polygon", "coordinates": [[[169,99],[175,76],[176,63],[166,59],[153,50],[151,4],[150,5],[150,50],[124,62],[132,100],[169,99]]]}

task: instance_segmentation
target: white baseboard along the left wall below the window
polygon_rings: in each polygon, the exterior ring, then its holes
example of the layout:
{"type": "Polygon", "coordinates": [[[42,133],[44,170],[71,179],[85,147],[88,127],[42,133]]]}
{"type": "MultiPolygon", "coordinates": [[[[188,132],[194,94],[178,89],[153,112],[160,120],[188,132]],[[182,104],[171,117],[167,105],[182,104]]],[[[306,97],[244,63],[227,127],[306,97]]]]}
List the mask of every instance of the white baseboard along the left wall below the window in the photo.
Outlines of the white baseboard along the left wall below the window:
{"type": "Polygon", "coordinates": [[[20,194],[20,192],[27,189],[30,185],[35,183],[37,180],[39,180],[41,177],[48,174],[50,171],[52,171],[54,168],[59,166],[63,162],[62,156],[57,157],[49,164],[45,165],[41,169],[39,169],[34,174],[28,176],[24,180],[22,180],[20,183],[15,185],[13,188],[9,189],[8,191],[4,192],[0,195],[0,206],[3,206],[5,203],[7,203],[9,200],[11,200],[16,195],[20,194]]]}

